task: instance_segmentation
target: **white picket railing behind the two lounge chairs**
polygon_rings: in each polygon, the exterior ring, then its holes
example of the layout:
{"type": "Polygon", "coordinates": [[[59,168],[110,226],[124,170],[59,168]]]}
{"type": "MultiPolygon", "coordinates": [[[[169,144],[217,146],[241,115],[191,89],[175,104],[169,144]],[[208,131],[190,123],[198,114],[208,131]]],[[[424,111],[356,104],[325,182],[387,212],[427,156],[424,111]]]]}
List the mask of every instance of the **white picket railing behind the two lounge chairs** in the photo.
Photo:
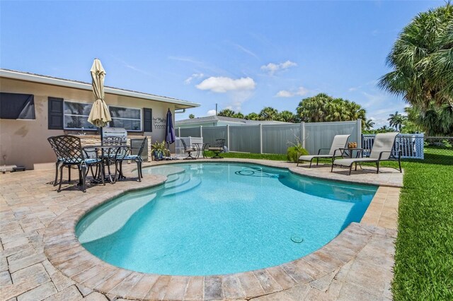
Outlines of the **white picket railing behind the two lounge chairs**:
{"type": "MultiPolygon", "coordinates": [[[[363,155],[368,156],[376,135],[363,134],[362,135],[362,148],[363,155]]],[[[424,148],[423,134],[398,134],[396,136],[393,151],[401,151],[401,158],[423,159],[424,148]]]]}

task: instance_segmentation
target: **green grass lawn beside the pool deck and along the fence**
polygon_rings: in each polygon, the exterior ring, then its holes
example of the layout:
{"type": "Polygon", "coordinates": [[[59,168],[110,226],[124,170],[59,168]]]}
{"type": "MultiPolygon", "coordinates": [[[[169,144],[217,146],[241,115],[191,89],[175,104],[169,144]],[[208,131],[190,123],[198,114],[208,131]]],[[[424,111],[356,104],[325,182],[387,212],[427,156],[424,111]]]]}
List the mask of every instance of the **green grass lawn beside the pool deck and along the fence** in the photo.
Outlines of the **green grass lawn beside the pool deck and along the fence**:
{"type": "MultiPolygon", "coordinates": [[[[286,155],[222,156],[286,161],[286,155]]],[[[453,300],[453,149],[425,148],[425,160],[403,161],[403,169],[394,300],[453,300]]]]}

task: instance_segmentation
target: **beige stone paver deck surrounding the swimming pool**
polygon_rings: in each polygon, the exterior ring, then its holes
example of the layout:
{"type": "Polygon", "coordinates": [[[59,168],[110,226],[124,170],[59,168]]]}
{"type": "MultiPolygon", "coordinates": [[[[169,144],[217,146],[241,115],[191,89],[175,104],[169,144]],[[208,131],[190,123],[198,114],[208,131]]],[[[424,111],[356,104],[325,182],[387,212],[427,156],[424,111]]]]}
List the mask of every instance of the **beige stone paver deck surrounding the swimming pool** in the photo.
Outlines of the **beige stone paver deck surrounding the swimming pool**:
{"type": "MultiPolygon", "coordinates": [[[[201,160],[192,161],[192,163],[201,160]]],[[[57,193],[53,170],[0,175],[1,300],[389,300],[394,264],[396,214],[402,175],[384,169],[351,176],[330,167],[295,167],[264,160],[227,160],[275,167],[334,180],[379,187],[362,222],[352,223],[318,251],[281,266],[224,276],[182,277],[136,273],[106,264],[76,240],[77,220],[99,203],[130,189],[160,184],[165,177],[144,175],[141,183],[74,185],[57,193]],[[327,172],[327,170],[329,172],[327,172]],[[379,179],[379,183],[375,181],[379,179]],[[47,183],[47,184],[46,184],[47,183]]],[[[175,163],[188,163],[178,160],[175,163]]],[[[215,162],[220,162],[215,160],[215,162]]],[[[166,163],[166,162],[164,162],[166,163]]],[[[162,163],[147,163],[144,166],[162,163]]],[[[132,165],[125,168],[130,175],[132,165]]],[[[133,173],[136,175],[136,172],[133,173]]]]}

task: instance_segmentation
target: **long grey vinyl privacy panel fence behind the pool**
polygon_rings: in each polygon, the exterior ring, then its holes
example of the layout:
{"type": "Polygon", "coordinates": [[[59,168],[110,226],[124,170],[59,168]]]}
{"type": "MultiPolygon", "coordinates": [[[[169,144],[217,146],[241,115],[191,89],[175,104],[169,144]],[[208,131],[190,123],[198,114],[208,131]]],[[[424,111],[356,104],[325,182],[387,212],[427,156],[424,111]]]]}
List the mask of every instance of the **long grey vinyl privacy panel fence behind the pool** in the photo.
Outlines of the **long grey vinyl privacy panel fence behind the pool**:
{"type": "Polygon", "coordinates": [[[229,151],[241,153],[285,154],[289,146],[300,141],[309,153],[319,148],[330,148],[333,136],[349,134],[350,142],[362,143],[362,121],[314,122],[300,124],[258,124],[249,126],[197,126],[177,128],[178,137],[201,137],[214,145],[216,139],[225,139],[229,151]]]}

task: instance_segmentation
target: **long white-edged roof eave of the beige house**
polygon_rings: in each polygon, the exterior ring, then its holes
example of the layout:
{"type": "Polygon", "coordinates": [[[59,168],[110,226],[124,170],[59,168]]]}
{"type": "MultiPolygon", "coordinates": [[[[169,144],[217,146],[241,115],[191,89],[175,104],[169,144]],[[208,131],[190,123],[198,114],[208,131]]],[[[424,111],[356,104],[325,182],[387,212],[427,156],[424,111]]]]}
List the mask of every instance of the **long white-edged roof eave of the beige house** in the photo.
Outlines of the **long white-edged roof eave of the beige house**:
{"type": "MultiPolygon", "coordinates": [[[[91,90],[91,83],[83,81],[73,81],[65,78],[56,78],[52,76],[43,76],[35,73],[28,73],[23,71],[15,71],[9,69],[0,69],[0,77],[13,78],[21,81],[31,81],[35,83],[45,83],[48,85],[59,85],[67,88],[76,88],[81,90],[91,90]]],[[[104,86],[104,92],[108,94],[130,96],[132,98],[142,98],[145,100],[154,100],[159,102],[168,102],[176,105],[176,109],[185,109],[190,107],[200,107],[199,103],[189,102],[187,100],[179,100],[176,98],[167,98],[166,96],[159,96],[149,93],[137,92],[133,90],[126,90],[120,88],[104,86]]]]}

